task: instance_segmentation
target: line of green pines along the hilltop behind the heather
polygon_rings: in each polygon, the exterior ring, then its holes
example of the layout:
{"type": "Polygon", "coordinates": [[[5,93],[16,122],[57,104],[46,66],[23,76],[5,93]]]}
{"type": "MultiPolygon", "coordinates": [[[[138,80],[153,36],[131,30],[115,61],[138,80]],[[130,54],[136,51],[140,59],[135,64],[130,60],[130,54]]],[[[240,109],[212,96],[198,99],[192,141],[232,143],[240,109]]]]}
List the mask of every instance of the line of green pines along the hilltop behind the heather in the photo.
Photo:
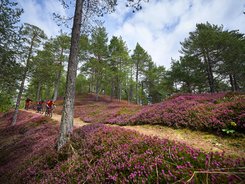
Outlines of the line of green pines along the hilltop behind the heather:
{"type": "MultiPolygon", "coordinates": [[[[62,72],[65,73],[69,40],[68,35],[50,39],[35,56],[36,73],[28,88],[29,95],[35,94],[33,98],[40,98],[40,85],[42,96],[53,96],[55,100],[59,88],[60,95],[64,94],[62,72]]],[[[76,93],[92,92],[97,100],[105,94],[111,100],[148,104],[177,92],[245,90],[245,42],[244,35],[237,30],[223,30],[222,26],[208,22],[197,24],[196,30],[181,42],[182,56],[172,60],[169,70],[157,66],[139,43],[130,53],[121,37],[109,40],[104,27],[97,27],[91,35],[82,35],[79,44],[76,93]]]]}

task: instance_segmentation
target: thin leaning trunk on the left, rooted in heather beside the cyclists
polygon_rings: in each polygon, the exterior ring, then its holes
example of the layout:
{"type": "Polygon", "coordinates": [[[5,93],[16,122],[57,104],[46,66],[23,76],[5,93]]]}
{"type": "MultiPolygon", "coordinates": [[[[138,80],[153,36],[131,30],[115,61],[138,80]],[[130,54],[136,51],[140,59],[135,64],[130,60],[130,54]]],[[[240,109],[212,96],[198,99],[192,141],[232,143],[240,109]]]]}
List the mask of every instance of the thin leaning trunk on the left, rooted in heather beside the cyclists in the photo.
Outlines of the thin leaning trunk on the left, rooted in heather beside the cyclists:
{"type": "Polygon", "coordinates": [[[30,46],[30,49],[29,49],[29,52],[28,52],[28,57],[27,57],[27,61],[26,61],[26,67],[25,67],[25,70],[24,70],[23,78],[22,78],[21,85],[20,85],[19,94],[18,94],[18,97],[17,97],[16,105],[15,105],[15,111],[14,111],[14,116],[13,116],[13,120],[12,120],[12,126],[14,126],[16,124],[17,116],[18,116],[18,113],[19,113],[19,106],[20,106],[21,96],[22,96],[22,93],[24,91],[25,80],[26,80],[27,72],[29,70],[29,65],[30,65],[29,63],[30,63],[30,59],[31,59],[32,48],[33,48],[35,37],[36,37],[36,35],[34,35],[32,37],[32,40],[31,40],[31,46],[30,46]]]}

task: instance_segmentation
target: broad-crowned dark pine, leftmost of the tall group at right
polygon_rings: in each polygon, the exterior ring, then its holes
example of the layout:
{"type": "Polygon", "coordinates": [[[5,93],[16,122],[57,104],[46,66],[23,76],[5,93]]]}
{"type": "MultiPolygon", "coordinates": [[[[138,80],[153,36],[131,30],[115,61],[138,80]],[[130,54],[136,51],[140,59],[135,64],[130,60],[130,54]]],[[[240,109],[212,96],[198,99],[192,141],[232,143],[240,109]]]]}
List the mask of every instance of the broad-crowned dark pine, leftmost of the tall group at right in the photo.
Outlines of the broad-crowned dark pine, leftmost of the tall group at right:
{"type": "Polygon", "coordinates": [[[196,30],[189,33],[189,38],[181,43],[181,52],[185,55],[197,57],[205,65],[205,72],[210,88],[213,93],[215,89],[214,69],[218,62],[216,53],[219,50],[219,33],[222,32],[223,27],[216,25],[197,24],[196,30]]]}

